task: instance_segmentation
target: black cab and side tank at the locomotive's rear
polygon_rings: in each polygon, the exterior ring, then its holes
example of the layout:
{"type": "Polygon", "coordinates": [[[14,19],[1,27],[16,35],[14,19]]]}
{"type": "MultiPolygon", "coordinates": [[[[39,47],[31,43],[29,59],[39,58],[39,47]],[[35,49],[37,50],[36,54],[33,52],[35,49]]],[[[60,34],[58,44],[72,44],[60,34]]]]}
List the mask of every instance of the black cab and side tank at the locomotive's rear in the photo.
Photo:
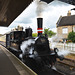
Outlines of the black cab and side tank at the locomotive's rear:
{"type": "Polygon", "coordinates": [[[6,47],[10,49],[17,57],[22,53],[20,44],[25,38],[24,31],[13,31],[6,34],[6,47]]]}

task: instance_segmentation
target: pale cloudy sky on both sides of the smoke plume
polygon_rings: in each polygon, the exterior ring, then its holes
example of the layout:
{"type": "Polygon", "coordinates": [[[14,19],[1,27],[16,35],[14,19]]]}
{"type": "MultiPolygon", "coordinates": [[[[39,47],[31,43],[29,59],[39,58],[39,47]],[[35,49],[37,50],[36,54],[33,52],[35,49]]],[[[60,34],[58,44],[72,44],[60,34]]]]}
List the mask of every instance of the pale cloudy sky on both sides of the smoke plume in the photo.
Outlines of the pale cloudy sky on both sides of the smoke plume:
{"type": "MultiPolygon", "coordinates": [[[[61,2],[53,1],[49,4],[44,3],[42,9],[43,28],[50,28],[50,30],[57,32],[56,23],[59,17],[67,16],[68,10],[75,8],[75,6],[61,2]]],[[[37,3],[32,2],[10,25],[9,27],[0,27],[0,34],[9,32],[11,29],[18,25],[23,26],[24,29],[31,27],[33,33],[37,32],[37,3]]],[[[71,11],[72,15],[75,15],[75,11],[71,11]]]]}

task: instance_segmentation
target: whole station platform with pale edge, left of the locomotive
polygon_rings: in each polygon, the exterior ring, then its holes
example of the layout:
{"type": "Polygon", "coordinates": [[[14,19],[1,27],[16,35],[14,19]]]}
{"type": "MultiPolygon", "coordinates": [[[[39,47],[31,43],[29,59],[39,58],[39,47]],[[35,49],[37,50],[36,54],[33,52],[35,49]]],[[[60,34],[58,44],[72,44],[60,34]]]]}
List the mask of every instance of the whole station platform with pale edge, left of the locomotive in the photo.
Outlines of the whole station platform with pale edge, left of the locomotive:
{"type": "Polygon", "coordinates": [[[0,75],[37,75],[17,57],[0,45],[0,75]]]}

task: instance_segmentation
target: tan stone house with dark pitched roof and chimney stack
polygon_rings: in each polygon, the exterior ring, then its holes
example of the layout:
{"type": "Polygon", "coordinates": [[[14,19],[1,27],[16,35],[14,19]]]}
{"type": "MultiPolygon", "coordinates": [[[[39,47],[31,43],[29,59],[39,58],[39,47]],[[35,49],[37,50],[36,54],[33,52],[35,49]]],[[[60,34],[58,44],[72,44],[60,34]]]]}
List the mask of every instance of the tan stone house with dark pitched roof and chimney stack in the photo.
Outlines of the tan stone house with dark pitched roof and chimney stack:
{"type": "Polygon", "coordinates": [[[69,32],[75,32],[75,15],[71,15],[71,11],[68,11],[67,16],[60,16],[56,27],[57,36],[63,40],[67,39],[69,32]]]}

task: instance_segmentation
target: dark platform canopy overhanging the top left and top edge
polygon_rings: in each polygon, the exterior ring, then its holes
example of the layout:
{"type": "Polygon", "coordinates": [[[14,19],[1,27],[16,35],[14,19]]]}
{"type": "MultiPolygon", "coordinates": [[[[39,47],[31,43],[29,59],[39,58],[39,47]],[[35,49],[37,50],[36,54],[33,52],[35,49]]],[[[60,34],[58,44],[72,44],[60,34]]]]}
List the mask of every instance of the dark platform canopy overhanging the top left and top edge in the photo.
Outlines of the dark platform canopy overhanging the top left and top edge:
{"type": "MultiPolygon", "coordinates": [[[[0,26],[8,27],[11,22],[22,13],[34,0],[0,0],[0,26]]],[[[40,0],[50,3],[54,0],[40,0]]],[[[59,0],[75,5],[74,0],[59,0]]]]}

